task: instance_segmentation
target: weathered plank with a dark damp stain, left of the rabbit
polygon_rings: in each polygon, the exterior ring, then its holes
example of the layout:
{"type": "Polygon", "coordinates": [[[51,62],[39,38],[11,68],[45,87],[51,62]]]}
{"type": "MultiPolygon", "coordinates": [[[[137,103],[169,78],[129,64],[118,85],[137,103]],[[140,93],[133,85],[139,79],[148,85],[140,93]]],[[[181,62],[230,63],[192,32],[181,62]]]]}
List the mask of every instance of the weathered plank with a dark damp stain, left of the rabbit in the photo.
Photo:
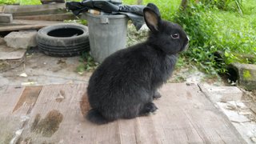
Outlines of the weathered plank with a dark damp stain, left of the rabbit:
{"type": "MultiPolygon", "coordinates": [[[[85,142],[84,139],[88,136],[80,133],[84,131],[83,125],[86,123],[79,106],[85,91],[86,85],[83,84],[44,86],[20,141],[85,142]]],[[[90,127],[85,131],[93,134],[90,127]]]]}

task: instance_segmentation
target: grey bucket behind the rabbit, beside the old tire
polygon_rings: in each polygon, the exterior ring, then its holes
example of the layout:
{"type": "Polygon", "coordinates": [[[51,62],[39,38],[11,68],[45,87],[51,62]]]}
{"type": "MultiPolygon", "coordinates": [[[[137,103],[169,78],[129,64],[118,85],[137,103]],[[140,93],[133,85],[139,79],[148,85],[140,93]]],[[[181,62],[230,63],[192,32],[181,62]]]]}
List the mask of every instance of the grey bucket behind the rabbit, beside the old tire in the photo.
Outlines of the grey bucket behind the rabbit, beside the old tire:
{"type": "Polygon", "coordinates": [[[126,47],[127,22],[124,14],[83,14],[88,22],[90,52],[97,62],[126,47]]]}

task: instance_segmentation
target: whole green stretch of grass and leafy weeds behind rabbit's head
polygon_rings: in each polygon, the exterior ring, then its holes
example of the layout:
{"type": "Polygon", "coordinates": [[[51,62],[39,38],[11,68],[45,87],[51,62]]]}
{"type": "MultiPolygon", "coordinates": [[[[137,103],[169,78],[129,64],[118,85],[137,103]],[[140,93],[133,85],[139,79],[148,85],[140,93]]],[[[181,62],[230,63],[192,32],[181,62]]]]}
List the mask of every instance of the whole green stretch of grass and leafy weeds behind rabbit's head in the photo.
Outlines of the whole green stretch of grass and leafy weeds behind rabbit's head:
{"type": "MultiPolygon", "coordinates": [[[[136,4],[137,0],[123,2],[136,4]]],[[[241,56],[256,56],[255,0],[201,1],[203,4],[190,3],[186,11],[179,10],[180,0],[144,0],[143,4],[148,2],[158,6],[162,18],[177,22],[186,30],[190,48],[182,54],[182,58],[201,70],[210,74],[225,73],[226,66],[231,62],[256,63],[256,58],[248,60],[241,56]],[[217,51],[225,56],[222,62],[216,62],[214,53],[217,51]]]]}

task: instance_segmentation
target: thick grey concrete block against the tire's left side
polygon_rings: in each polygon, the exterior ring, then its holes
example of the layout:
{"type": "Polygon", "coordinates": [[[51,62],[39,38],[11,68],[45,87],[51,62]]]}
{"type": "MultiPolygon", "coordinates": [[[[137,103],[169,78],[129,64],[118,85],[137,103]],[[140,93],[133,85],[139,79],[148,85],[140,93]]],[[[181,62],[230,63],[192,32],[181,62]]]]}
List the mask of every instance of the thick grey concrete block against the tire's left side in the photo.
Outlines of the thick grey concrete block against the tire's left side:
{"type": "Polygon", "coordinates": [[[7,46],[13,48],[27,49],[29,47],[37,46],[36,41],[37,30],[22,30],[18,32],[11,32],[6,35],[4,40],[7,46]]]}

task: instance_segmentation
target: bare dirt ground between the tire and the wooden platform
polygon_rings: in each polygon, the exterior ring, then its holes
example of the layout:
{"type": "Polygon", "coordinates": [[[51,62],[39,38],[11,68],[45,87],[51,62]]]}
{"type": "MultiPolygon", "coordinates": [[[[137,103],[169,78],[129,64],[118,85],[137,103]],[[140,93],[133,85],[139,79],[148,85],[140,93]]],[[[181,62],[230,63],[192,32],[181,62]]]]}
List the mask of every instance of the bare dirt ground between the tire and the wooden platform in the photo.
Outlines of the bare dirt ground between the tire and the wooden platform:
{"type": "Polygon", "coordinates": [[[79,58],[54,58],[40,53],[37,49],[29,50],[21,65],[2,70],[0,86],[88,82],[91,72],[78,74],[76,71],[79,58]]]}

